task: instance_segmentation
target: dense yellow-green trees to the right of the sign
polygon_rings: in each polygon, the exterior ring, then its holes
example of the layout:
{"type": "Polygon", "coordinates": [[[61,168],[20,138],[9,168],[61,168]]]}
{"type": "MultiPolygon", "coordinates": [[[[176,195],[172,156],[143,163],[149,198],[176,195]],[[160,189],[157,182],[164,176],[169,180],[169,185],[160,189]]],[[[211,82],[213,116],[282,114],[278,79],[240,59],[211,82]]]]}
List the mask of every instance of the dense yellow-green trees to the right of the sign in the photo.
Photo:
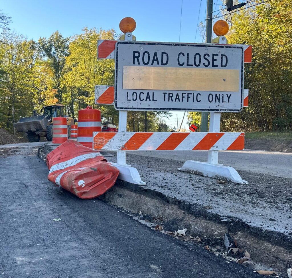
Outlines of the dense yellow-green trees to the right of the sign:
{"type": "Polygon", "coordinates": [[[222,113],[222,131],[292,129],[292,2],[269,1],[232,16],[230,44],[251,44],[244,86],[249,107],[222,113]]]}

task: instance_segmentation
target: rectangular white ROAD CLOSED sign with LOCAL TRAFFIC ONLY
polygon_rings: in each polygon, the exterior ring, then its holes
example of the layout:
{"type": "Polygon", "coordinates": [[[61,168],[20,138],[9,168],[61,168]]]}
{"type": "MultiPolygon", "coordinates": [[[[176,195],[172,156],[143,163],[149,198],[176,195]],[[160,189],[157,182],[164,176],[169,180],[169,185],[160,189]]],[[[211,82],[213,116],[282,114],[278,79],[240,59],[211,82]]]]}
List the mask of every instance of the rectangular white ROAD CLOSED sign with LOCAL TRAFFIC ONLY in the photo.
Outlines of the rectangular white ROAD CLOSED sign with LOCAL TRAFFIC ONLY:
{"type": "Polygon", "coordinates": [[[244,48],[118,41],[115,108],[239,112],[244,48]]]}

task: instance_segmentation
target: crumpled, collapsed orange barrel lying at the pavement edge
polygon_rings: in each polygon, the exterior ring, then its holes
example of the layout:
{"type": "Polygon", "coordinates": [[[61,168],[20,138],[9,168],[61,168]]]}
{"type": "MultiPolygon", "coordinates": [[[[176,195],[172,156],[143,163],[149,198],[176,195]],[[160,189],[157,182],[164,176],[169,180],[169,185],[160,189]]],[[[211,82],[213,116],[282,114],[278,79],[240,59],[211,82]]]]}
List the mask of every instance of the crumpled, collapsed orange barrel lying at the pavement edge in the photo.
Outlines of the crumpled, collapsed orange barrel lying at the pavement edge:
{"type": "Polygon", "coordinates": [[[97,151],[67,140],[47,155],[48,180],[81,199],[96,198],[116,182],[119,170],[97,151]]]}

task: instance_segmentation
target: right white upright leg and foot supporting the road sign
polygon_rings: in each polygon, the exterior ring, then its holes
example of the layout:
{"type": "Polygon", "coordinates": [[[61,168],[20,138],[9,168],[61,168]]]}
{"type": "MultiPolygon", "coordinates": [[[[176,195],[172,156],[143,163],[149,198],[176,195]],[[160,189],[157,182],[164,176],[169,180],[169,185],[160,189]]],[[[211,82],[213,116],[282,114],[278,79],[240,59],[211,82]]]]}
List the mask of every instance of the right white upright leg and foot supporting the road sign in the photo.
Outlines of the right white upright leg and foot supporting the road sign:
{"type": "MultiPolygon", "coordinates": [[[[210,112],[209,132],[220,132],[220,118],[220,112],[210,112]]],[[[208,162],[188,160],[178,170],[234,183],[247,184],[248,182],[243,180],[234,168],[218,164],[218,153],[218,151],[208,151],[208,162]]]]}

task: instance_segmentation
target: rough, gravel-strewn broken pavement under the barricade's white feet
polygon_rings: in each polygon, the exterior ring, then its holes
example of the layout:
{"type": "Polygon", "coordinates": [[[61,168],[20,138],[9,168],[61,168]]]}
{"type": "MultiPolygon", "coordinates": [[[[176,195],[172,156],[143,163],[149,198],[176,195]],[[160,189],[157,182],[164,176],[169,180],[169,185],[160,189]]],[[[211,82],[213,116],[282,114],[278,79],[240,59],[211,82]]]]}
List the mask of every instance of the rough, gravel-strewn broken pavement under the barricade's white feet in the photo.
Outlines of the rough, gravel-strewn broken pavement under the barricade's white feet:
{"type": "MultiPolygon", "coordinates": [[[[107,159],[115,162],[116,158],[107,159]]],[[[238,171],[241,178],[249,181],[248,185],[239,185],[218,183],[216,179],[178,171],[182,162],[173,159],[127,154],[127,164],[138,169],[146,182],[144,188],[202,205],[206,211],[220,215],[223,220],[240,219],[250,227],[267,231],[267,234],[275,234],[276,237],[284,234],[292,238],[291,177],[238,171]]]]}

